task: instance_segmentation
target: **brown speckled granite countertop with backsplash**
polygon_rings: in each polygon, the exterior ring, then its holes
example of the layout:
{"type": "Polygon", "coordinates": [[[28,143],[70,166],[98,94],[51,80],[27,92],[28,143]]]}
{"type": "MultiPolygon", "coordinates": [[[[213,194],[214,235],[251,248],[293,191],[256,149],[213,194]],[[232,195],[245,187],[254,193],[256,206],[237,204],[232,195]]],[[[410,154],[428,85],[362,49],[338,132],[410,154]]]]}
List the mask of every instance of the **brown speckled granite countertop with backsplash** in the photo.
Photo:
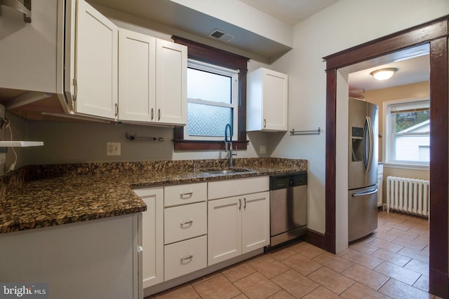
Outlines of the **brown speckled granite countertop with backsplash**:
{"type": "Polygon", "coordinates": [[[147,209],[133,188],[307,170],[307,160],[235,159],[236,174],[207,174],[227,160],[36,165],[0,178],[0,233],[88,221],[147,209]]]}

